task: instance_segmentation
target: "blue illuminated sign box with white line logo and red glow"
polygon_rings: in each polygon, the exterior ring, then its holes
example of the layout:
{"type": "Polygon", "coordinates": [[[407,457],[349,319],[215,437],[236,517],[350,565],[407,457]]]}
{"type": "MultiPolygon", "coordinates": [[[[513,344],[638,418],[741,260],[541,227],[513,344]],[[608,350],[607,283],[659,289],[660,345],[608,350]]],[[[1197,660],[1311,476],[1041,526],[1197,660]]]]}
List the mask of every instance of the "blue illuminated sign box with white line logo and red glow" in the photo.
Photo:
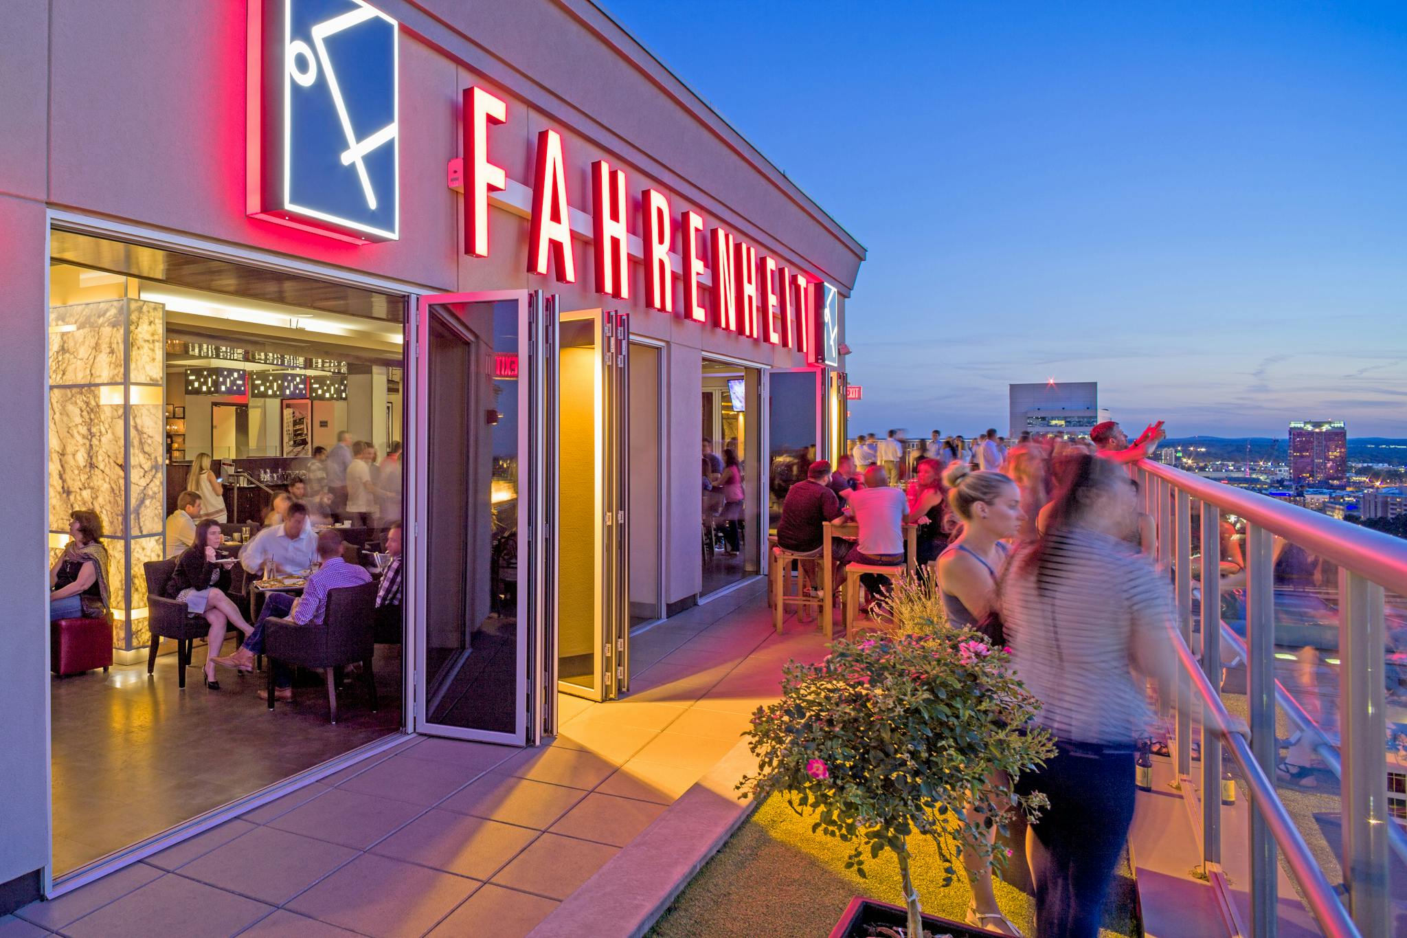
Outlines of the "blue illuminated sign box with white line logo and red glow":
{"type": "Polygon", "coordinates": [[[249,214],[401,231],[398,24],[362,0],[249,0],[249,214]]]}

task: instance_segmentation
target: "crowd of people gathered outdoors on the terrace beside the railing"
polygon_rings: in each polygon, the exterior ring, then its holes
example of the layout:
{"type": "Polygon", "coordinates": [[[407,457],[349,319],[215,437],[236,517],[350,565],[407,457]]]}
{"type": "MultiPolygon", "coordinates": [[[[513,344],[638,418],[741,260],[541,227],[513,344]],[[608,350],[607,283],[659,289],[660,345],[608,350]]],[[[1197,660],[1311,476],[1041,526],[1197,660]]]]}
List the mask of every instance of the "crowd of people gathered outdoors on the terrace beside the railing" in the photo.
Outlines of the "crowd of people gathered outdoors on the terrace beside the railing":
{"type": "MultiPolygon", "coordinates": [[[[834,471],[812,463],[787,492],[778,544],[819,555],[825,522],[848,515],[858,539],[833,544],[839,563],[893,565],[905,561],[903,525],[919,526],[920,575],[937,575],[947,620],[1010,648],[1057,741],[1017,786],[1050,799],[1027,841],[1037,934],[1093,938],[1133,818],[1147,681],[1166,686],[1176,662],[1172,591],[1151,563],[1127,465],[1152,454],[1162,425],[1133,443],[1104,422],[1088,440],[1021,433],[1010,447],[995,429],[971,443],[934,430],[909,465],[900,439],[858,437],[834,471]]],[[[865,585],[882,603],[885,584],[865,585]]],[[[1020,934],[979,852],[965,856],[968,923],[1020,934]]]]}

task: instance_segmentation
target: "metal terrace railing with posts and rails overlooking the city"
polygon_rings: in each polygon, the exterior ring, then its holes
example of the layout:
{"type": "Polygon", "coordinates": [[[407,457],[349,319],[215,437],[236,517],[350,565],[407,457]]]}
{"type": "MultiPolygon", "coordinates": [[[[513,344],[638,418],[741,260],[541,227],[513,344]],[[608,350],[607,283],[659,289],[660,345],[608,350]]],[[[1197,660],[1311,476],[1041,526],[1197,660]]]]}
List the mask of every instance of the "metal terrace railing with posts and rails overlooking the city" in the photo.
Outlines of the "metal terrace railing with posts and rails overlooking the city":
{"type": "MultiPolygon", "coordinates": [[[[1265,495],[1213,482],[1144,460],[1138,464],[1147,512],[1157,532],[1155,558],[1176,585],[1183,643],[1178,686],[1176,745],[1179,779],[1192,779],[1192,717],[1203,707],[1221,719],[1221,623],[1218,591],[1207,591],[1200,608],[1200,662],[1193,644],[1193,565],[1202,584],[1217,584],[1223,513],[1245,520],[1247,665],[1249,744],[1238,734],[1203,733],[1202,855],[1209,880],[1227,890],[1221,870],[1221,745],[1240,768],[1251,792],[1249,934],[1268,938],[1278,927],[1278,851],[1294,878],[1306,906],[1327,935],[1386,938],[1392,932],[1389,841],[1396,821],[1387,807],[1384,591],[1407,593],[1407,541],[1287,505],[1265,495]],[[1192,502],[1200,502],[1200,544],[1192,544],[1192,502]],[[1339,568],[1338,655],[1339,738],[1334,751],[1313,720],[1275,676],[1275,539],[1280,537],[1339,568]],[[1195,554],[1200,553],[1199,558],[1195,554]],[[1314,730],[1321,754],[1342,780],[1342,873],[1348,908],[1316,862],[1304,837],[1275,790],[1278,740],[1275,707],[1283,700],[1292,723],[1314,730]],[[1338,765],[1334,766],[1332,762],[1338,765]]],[[[1234,633],[1231,633],[1234,636],[1234,633]]],[[[1235,641],[1240,645],[1240,641],[1235,641]]],[[[1230,896],[1223,899],[1231,908],[1230,896]]]]}

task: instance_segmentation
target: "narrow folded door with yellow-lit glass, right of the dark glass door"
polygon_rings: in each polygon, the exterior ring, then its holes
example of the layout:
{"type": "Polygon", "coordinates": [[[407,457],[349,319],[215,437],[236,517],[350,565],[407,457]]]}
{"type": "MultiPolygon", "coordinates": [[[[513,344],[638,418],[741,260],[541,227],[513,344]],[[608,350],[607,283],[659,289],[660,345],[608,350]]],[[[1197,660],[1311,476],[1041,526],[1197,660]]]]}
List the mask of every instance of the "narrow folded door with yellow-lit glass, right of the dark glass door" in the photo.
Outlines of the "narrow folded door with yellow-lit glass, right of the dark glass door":
{"type": "Polygon", "coordinates": [[[629,685],[630,325],[623,312],[563,312],[557,686],[591,700],[629,685]]]}

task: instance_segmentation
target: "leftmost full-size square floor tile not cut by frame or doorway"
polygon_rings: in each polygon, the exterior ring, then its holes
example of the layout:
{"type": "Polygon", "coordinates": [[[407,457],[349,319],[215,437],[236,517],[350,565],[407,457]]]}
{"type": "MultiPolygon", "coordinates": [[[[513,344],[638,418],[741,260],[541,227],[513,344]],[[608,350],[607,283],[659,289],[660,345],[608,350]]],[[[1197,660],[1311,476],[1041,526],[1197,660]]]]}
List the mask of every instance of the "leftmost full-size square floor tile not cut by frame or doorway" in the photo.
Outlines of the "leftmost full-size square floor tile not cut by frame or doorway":
{"type": "Polygon", "coordinates": [[[180,875],[281,906],[356,855],[350,847],[259,827],[182,866],[180,875]]]}

